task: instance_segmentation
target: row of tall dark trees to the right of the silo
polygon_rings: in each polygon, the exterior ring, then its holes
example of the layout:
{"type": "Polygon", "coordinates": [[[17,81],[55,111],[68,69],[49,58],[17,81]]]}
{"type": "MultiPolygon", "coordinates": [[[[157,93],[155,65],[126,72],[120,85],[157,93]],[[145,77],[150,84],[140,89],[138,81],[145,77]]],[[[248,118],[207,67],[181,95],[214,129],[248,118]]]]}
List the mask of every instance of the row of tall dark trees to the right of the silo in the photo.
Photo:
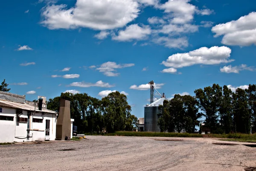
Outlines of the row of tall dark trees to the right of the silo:
{"type": "Polygon", "coordinates": [[[202,116],[211,133],[250,133],[252,126],[256,126],[255,84],[250,84],[245,90],[237,88],[235,92],[226,85],[213,84],[194,93],[194,97],[175,95],[159,106],[161,132],[185,130],[193,133],[202,116]]]}

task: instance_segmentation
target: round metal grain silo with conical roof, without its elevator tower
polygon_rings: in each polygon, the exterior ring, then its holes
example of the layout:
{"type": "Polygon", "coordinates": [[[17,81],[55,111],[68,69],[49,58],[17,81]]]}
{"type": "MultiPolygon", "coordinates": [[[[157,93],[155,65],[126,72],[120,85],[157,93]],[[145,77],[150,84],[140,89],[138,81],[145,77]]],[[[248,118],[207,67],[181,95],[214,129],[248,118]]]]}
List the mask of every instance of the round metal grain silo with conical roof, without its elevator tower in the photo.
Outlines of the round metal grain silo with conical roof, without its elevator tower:
{"type": "Polygon", "coordinates": [[[151,104],[148,104],[144,107],[144,131],[148,132],[160,132],[160,128],[157,125],[158,121],[158,107],[163,105],[163,101],[168,100],[165,97],[154,101],[151,104]]]}

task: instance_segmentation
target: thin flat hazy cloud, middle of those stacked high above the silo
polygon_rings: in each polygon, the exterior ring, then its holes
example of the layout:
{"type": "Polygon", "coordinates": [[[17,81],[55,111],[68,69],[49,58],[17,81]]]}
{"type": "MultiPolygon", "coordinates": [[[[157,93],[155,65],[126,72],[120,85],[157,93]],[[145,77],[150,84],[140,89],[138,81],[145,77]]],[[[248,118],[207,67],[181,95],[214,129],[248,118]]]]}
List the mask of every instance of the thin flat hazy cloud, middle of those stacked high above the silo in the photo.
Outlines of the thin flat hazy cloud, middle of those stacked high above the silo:
{"type": "Polygon", "coordinates": [[[159,32],[164,34],[171,34],[176,35],[180,33],[193,33],[198,31],[198,26],[193,24],[168,24],[164,25],[162,29],[159,30],[159,32]]]}

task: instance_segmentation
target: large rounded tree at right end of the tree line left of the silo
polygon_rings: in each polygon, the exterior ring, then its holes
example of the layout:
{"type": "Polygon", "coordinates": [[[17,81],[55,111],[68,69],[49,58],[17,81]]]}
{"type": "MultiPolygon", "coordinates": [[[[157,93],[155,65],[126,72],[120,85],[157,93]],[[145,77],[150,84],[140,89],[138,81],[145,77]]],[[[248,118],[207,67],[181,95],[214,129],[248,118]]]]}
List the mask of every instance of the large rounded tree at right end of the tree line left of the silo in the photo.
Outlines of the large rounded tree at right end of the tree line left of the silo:
{"type": "Polygon", "coordinates": [[[118,91],[102,98],[103,117],[108,132],[125,130],[127,119],[131,117],[131,106],[127,97],[118,91]]]}

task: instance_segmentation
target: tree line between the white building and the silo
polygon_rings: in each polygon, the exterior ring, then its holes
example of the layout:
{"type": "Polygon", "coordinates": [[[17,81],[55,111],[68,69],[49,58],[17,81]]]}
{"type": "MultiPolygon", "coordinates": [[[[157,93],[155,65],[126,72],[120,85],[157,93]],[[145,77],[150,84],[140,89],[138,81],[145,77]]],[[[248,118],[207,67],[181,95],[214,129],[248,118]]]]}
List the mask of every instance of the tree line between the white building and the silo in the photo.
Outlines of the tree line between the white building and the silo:
{"type": "Polygon", "coordinates": [[[118,91],[100,99],[86,93],[61,93],[61,96],[49,99],[47,109],[59,111],[60,99],[70,101],[70,114],[79,132],[109,133],[118,130],[133,130],[138,125],[136,116],[131,115],[131,106],[127,97],[118,91]]]}

